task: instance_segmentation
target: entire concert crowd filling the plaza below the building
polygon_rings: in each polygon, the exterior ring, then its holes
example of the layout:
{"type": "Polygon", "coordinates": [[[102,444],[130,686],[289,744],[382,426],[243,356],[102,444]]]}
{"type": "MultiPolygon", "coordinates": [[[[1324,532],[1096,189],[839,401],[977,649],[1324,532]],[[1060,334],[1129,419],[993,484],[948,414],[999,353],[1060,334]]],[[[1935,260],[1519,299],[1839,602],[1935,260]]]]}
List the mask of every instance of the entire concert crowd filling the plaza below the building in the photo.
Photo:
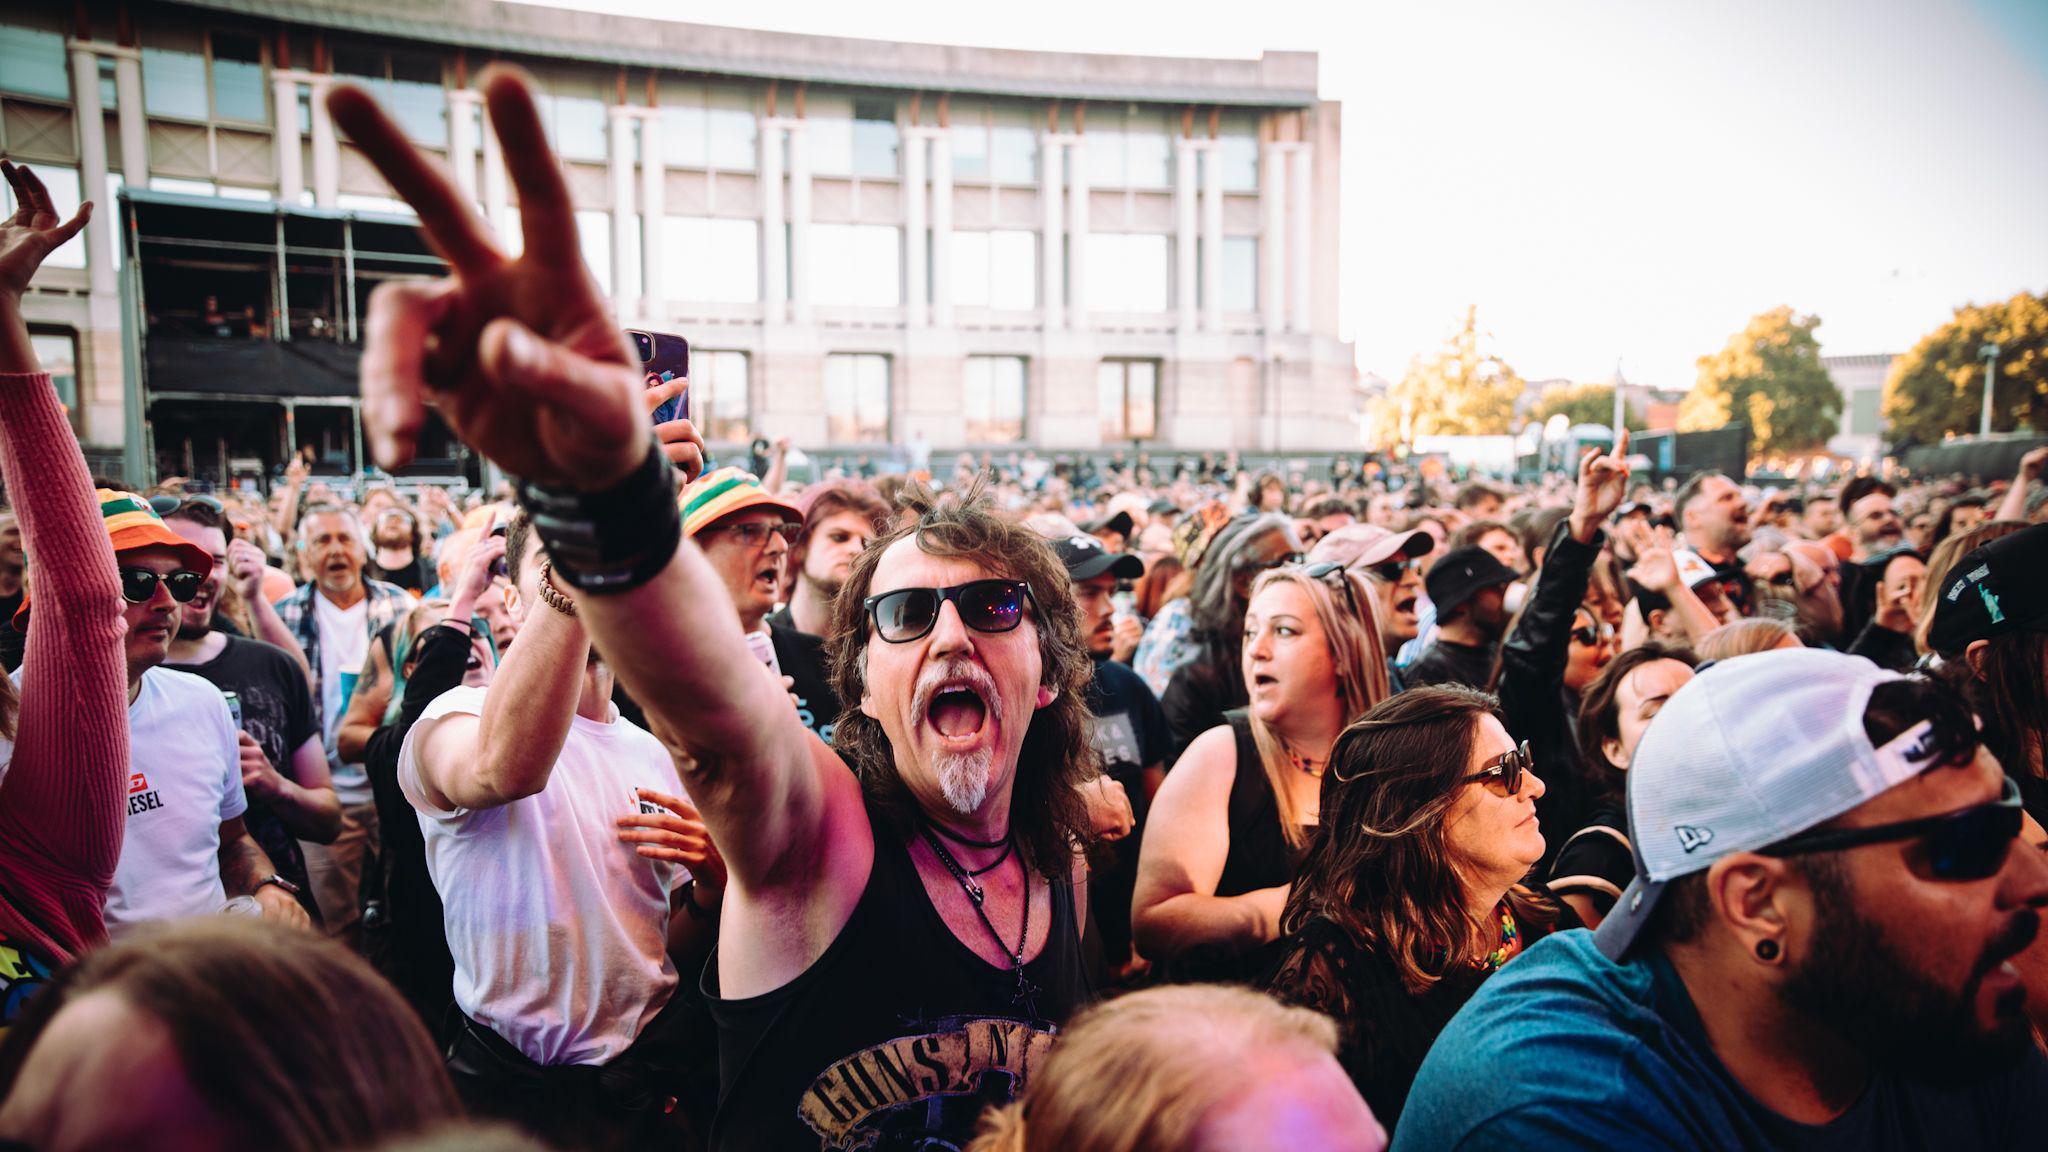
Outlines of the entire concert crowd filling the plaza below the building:
{"type": "Polygon", "coordinates": [[[96,484],[20,318],[90,205],[4,164],[0,1144],[2048,1127],[2048,449],[709,467],[485,96],[516,258],[330,107],[451,264],[373,297],[375,453],[434,404],[508,498],[96,484]]]}

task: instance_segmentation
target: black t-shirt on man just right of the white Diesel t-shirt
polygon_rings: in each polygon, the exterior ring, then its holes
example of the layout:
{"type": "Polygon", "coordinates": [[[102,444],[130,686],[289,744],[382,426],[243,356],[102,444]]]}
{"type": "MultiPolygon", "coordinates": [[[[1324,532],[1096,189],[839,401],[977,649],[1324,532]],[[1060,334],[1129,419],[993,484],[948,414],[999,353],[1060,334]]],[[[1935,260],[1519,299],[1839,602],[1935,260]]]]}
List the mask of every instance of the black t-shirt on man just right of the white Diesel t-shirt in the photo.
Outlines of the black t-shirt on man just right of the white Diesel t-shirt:
{"type": "MultiPolygon", "coordinates": [[[[178,670],[205,676],[223,693],[236,693],[242,705],[242,732],[248,732],[262,746],[262,754],[270,758],[279,775],[293,779],[291,754],[309,738],[319,736],[319,719],[313,715],[313,687],[305,678],[305,668],[274,644],[238,635],[225,640],[227,646],[213,660],[184,664],[178,670]]],[[[252,795],[242,824],[256,847],[276,865],[276,873],[303,890],[299,904],[317,918],[319,912],[305,875],[305,853],[285,820],[252,795]]]]}

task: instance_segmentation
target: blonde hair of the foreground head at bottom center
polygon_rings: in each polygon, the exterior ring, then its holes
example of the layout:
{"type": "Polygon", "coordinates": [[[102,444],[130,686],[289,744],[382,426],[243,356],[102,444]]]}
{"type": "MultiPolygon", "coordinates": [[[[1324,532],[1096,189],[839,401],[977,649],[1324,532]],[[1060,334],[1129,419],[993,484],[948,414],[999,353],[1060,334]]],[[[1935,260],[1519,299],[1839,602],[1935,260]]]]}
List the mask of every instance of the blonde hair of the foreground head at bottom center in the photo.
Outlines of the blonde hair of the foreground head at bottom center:
{"type": "Polygon", "coordinates": [[[1053,1045],[1022,1099],[981,1117],[967,1152],[1167,1152],[1196,1148],[1214,1105],[1245,1091],[1257,1050],[1337,1050],[1337,1025],[1233,984],[1147,988],[1090,1009],[1053,1045]]]}

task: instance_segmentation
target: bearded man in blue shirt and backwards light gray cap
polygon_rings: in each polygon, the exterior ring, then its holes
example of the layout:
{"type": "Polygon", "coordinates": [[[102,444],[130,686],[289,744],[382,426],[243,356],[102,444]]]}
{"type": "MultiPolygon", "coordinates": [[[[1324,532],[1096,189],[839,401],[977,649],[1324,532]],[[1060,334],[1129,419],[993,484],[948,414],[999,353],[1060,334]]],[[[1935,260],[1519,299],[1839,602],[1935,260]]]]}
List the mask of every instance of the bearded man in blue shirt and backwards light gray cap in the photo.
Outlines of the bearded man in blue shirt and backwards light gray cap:
{"type": "Polygon", "coordinates": [[[2040,1146],[2021,816],[1946,685],[1821,650],[1708,668],[1628,769],[1634,881],[1458,1013],[1395,1148],[2040,1146]]]}

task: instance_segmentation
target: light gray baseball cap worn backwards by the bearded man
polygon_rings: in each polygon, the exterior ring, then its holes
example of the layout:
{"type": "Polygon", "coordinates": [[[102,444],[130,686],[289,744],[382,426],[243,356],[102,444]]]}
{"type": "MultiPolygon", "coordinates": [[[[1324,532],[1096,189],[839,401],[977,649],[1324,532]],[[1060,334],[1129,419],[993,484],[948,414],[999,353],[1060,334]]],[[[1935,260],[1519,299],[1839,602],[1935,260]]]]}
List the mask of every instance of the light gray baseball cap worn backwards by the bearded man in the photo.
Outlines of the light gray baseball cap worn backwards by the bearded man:
{"type": "Polygon", "coordinates": [[[1636,877],[1593,941],[1622,959],[1665,883],[1825,824],[1933,765],[1927,724],[1882,748],[1864,732],[1870,693],[1903,681],[1821,648],[1710,666],[1671,695],[1628,765],[1636,877]]]}

